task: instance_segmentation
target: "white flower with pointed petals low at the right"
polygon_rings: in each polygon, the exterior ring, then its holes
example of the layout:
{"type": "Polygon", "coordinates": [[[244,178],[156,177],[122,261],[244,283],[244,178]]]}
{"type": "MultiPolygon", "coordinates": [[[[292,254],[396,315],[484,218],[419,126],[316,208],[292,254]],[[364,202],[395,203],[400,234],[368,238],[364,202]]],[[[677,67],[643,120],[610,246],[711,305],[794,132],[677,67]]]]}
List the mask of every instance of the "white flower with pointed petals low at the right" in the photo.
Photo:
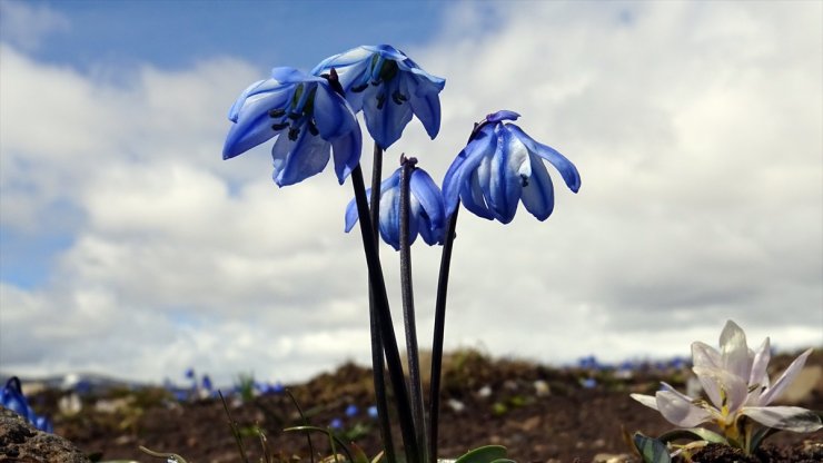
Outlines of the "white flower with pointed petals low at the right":
{"type": "Polygon", "coordinates": [[[823,427],[820,416],[797,406],[769,406],[792,383],[812,353],[801,354],[771,383],[766,374],[770,359],[769,338],[757,352],[746,345],[746,334],[734,322],[726,322],[720,337],[720,352],[695,342],[692,344],[692,371],[700,380],[710,402],[681,394],[666,383],[654,396],[632,394],[643,405],[650,406],[670,422],[682,427],[694,427],[714,422],[733,440],[746,439],[741,433],[738,420],[753,421],[779,430],[801,433],[823,427]]]}

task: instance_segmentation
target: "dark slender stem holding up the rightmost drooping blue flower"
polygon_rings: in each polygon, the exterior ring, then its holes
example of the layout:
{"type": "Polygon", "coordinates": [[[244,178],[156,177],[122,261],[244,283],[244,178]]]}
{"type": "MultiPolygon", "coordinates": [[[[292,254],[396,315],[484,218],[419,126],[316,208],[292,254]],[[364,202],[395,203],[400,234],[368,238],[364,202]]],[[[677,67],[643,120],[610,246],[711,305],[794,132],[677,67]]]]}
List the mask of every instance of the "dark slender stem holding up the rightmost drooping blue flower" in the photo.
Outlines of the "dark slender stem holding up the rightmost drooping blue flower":
{"type": "Polygon", "coordinates": [[[455,211],[448,219],[446,227],[446,243],[443,245],[440,257],[440,275],[437,278],[437,299],[435,302],[435,333],[432,341],[432,378],[429,384],[429,455],[437,460],[437,424],[440,415],[440,371],[443,368],[443,338],[446,332],[446,293],[448,290],[448,272],[452,266],[452,248],[455,242],[455,228],[457,227],[457,211],[460,203],[457,203],[455,211]]]}

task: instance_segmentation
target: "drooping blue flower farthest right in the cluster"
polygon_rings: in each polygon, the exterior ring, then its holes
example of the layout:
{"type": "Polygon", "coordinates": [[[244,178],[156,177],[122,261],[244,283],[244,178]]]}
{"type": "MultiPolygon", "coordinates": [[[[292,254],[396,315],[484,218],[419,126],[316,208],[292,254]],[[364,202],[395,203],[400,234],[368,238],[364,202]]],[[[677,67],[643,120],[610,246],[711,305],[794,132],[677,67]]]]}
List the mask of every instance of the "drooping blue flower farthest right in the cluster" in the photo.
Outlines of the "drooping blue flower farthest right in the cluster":
{"type": "Polygon", "coordinates": [[[468,210],[489,220],[508,224],[520,200],[526,210],[545,220],[554,209],[554,190],[543,160],[561,173],[572,191],[581,188],[574,164],[516,125],[504,124],[518,117],[514,111],[497,111],[475,126],[443,180],[447,217],[459,198],[468,210]]]}

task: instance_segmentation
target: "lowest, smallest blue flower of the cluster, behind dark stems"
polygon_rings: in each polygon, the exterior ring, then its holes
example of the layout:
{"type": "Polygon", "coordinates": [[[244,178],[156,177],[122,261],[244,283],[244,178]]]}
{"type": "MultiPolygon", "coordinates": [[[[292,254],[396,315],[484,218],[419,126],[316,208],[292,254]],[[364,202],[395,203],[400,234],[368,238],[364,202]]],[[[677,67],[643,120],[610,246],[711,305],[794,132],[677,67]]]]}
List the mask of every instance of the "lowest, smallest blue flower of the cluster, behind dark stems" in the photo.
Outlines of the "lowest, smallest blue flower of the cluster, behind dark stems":
{"type": "MultiPolygon", "coordinates": [[[[403,167],[380,184],[379,229],[383,240],[400,249],[400,174],[403,167]]],[[[409,244],[419,233],[428,245],[443,244],[446,215],[443,196],[435,181],[420,168],[414,168],[409,178],[409,244]]],[[[369,195],[370,190],[366,190],[369,195]]],[[[357,205],[353,199],[346,208],[346,232],[357,223],[357,205]]]]}

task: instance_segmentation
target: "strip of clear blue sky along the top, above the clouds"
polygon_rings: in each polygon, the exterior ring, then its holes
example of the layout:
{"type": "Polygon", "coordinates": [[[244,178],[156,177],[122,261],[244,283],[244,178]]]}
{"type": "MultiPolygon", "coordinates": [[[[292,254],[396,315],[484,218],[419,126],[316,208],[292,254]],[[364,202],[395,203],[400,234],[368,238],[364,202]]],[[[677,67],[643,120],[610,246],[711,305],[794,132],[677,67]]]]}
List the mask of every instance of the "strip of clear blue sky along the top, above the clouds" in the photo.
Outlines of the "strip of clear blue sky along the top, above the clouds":
{"type": "Polygon", "coordinates": [[[310,68],[316,57],[361,43],[425,45],[444,10],[428,0],[29,3],[68,19],[32,56],[85,71],[101,61],[180,69],[221,55],[310,68]]]}

